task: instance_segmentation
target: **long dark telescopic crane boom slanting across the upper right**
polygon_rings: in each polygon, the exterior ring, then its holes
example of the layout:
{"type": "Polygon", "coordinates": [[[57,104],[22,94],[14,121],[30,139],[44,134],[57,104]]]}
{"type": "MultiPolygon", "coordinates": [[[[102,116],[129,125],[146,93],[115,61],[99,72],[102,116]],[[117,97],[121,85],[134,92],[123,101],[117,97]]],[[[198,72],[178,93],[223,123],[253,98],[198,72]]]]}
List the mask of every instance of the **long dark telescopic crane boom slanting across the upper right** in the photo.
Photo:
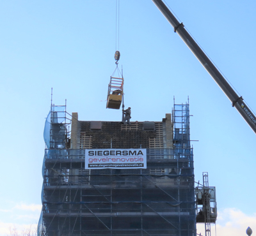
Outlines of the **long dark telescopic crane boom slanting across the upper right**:
{"type": "Polygon", "coordinates": [[[237,111],[242,115],[244,120],[249,124],[252,130],[256,133],[256,117],[253,112],[244,103],[243,98],[239,97],[237,93],[228,84],[227,80],[221,75],[220,71],[214,66],[211,60],[207,57],[204,51],[193,40],[184,25],[180,23],[172,12],[166,7],[161,0],[152,0],[157,8],[163,13],[164,17],[170,22],[174,28],[174,32],[179,34],[180,38],[186,43],[189,49],[193,52],[196,58],[204,66],[205,70],[211,75],[215,82],[220,86],[222,91],[227,95],[228,99],[232,102],[232,106],[236,107],[237,111]]]}

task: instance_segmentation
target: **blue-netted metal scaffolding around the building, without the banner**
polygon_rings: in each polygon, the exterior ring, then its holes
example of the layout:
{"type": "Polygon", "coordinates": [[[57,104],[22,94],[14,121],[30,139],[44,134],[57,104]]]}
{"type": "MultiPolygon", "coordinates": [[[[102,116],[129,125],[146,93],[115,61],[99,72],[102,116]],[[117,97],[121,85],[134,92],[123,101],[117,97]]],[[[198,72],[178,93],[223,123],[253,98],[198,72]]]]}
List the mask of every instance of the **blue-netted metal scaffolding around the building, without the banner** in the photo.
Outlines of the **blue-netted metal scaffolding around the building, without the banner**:
{"type": "MultiPolygon", "coordinates": [[[[56,115],[51,112],[49,120],[60,124],[56,115]]],[[[179,119],[174,148],[147,149],[147,169],[85,170],[86,149],[68,149],[54,136],[61,132],[52,132],[44,155],[38,235],[195,236],[188,106],[175,105],[173,121],[179,119]]]]}

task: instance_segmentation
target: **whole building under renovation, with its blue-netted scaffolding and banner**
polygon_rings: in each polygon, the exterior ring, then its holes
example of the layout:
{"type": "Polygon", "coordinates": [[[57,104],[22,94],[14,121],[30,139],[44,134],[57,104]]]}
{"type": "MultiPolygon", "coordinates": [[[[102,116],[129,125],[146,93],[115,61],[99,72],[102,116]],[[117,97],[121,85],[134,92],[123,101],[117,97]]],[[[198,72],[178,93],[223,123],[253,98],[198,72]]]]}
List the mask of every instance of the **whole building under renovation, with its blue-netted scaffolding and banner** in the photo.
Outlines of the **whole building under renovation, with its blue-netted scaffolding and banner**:
{"type": "Polygon", "coordinates": [[[45,122],[38,235],[196,235],[189,104],[163,121],[45,122]]]}

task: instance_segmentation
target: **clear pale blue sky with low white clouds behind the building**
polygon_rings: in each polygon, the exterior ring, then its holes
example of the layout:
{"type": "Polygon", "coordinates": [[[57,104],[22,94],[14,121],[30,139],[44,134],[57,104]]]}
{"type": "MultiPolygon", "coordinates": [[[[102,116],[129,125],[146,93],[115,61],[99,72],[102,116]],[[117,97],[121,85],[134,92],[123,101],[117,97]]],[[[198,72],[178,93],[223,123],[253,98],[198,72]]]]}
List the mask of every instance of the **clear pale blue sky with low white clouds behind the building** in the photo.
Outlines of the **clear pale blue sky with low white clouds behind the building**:
{"type": "MultiPolygon", "coordinates": [[[[166,3],[256,110],[255,1],[166,3]]],[[[80,120],[120,120],[120,110],[106,109],[115,70],[115,4],[0,3],[1,236],[13,224],[38,221],[51,87],[54,104],[67,99],[67,111],[78,112],[80,120]]],[[[191,140],[199,140],[192,142],[195,180],[209,172],[209,184],[216,186],[217,234],[256,230],[255,133],[152,1],[120,0],[119,45],[132,120],[161,121],[172,113],[173,96],[178,104],[189,96],[191,140]]]]}

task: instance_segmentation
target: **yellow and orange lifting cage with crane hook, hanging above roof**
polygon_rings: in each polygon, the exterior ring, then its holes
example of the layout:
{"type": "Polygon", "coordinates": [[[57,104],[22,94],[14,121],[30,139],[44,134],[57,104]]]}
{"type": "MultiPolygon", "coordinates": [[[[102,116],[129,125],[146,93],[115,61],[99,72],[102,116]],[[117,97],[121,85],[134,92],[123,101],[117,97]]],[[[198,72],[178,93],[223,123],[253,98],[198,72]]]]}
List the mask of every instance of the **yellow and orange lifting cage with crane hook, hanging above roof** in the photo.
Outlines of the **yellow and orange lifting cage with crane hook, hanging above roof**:
{"type": "Polygon", "coordinates": [[[108,98],[107,107],[111,109],[120,109],[123,96],[124,96],[124,78],[123,73],[118,68],[118,61],[120,59],[120,52],[115,52],[116,68],[110,77],[108,85],[108,98]],[[118,77],[115,77],[115,73],[118,73],[118,77]]]}

